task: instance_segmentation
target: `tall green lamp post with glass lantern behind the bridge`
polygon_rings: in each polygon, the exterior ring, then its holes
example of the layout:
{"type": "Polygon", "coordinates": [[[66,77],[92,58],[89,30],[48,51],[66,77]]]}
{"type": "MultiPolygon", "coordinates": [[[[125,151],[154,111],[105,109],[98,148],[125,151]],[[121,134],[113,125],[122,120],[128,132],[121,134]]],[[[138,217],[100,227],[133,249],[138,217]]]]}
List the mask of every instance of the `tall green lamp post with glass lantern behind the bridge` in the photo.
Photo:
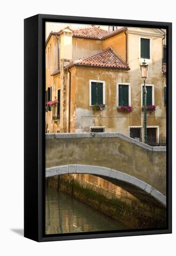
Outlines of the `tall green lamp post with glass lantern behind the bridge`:
{"type": "Polygon", "coordinates": [[[147,110],[146,110],[146,100],[147,100],[147,90],[145,86],[145,80],[148,77],[148,67],[149,65],[143,61],[143,63],[140,64],[141,67],[141,77],[143,79],[143,113],[144,113],[144,143],[147,143],[147,110]]]}

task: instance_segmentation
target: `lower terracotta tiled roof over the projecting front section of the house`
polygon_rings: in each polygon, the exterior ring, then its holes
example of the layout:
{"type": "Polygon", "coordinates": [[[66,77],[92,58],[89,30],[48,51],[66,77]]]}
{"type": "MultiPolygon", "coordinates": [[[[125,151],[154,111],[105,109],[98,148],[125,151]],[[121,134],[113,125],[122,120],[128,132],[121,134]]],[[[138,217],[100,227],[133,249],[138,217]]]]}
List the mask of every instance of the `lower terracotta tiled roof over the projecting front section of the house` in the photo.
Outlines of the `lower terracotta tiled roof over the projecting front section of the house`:
{"type": "Polygon", "coordinates": [[[65,69],[73,66],[111,67],[126,70],[130,69],[122,57],[118,55],[111,46],[95,54],[91,54],[82,59],[73,61],[67,65],[65,69]]]}

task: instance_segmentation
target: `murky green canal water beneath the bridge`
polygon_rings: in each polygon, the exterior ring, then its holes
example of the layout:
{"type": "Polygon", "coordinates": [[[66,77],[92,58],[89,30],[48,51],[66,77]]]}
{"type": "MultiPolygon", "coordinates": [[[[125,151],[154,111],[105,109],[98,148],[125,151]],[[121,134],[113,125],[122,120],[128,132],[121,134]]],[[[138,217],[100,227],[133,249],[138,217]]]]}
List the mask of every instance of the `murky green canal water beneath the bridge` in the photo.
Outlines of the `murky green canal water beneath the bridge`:
{"type": "Polygon", "coordinates": [[[70,195],[46,188],[46,234],[128,229],[70,195]]]}

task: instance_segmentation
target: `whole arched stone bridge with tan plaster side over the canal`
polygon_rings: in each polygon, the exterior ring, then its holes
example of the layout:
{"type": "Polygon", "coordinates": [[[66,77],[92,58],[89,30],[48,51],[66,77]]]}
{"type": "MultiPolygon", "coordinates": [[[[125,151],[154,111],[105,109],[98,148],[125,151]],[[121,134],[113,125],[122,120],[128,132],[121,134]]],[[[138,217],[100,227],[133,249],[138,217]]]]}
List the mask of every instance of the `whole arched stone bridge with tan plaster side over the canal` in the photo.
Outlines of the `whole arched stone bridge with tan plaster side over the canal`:
{"type": "Polygon", "coordinates": [[[46,134],[46,177],[72,173],[103,177],[166,206],[166,147],[119,133],[46,134]]]}

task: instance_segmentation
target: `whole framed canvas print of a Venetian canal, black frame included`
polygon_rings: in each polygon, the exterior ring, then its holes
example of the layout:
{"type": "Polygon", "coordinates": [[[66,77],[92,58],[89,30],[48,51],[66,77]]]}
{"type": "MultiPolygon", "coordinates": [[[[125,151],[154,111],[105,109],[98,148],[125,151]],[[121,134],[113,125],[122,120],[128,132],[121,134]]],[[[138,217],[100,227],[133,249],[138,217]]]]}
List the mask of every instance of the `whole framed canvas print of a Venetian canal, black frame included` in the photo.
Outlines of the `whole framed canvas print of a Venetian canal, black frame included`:
{"type": "Polygon", "coordinates": [[[171,233],[171,28],[25,20],[25,237],[171,233]]]}

